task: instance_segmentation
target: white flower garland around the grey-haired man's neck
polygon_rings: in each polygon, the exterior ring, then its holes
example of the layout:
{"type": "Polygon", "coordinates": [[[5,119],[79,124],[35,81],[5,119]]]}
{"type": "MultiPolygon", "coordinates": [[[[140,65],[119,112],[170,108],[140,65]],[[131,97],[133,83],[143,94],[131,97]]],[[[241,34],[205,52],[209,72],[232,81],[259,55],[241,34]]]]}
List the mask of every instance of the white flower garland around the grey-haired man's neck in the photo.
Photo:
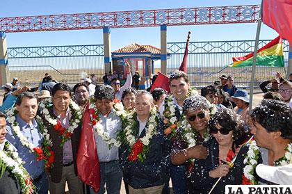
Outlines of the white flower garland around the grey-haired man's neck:
{"type": "MultiPolygon", "coordinates": [[[[132,113],[130,113],[127,117],[127,127],[124,129],[124,133],[126,135],[126,140],[127,140],[127,144],[132,147],[135,143],[136,143],[136,137],[133,135],[134,134],[134,129],[133,129],[133,125],[136,123],[135,118],[133,117],[133,115],[136,112],[133,111],[132,113]]],[[[156,127],[157,127],[157,122],[155,120],[156,118],[156,108],[152,108],[152,110],[150,111],[150,116],[149,119],[147,121],[146,127],[146,134],[143,138],[140,138],[141,142],[143,143],[143,145],[147,146],[150,143],[150,139],[152,138],[152,136],[154,136],[156,134],[156,127]]]]}

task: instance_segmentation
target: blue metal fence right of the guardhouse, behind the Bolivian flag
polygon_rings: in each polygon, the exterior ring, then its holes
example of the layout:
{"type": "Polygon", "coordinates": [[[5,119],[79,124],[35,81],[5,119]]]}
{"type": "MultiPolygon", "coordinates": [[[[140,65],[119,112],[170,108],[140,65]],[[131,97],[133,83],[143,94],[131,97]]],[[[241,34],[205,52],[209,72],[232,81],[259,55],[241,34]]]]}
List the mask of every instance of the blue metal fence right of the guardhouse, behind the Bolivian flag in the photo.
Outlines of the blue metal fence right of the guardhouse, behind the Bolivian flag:
{"type": "MultiPolygon", "coordinates": [[[[260,40],[259,48],[270,40],[260,40]]],[[[286,74],[289,42],[284,40],[285,67],[256,67],[256,86],[273,77],[271,72],[286,74]]],[[[179,68],[186,42],[168,42],[168,73],[179,68]]],[[[227,67],[233,56],[244,56],[254,50],[254,40],[190,42],[188,45],[188,78],[195,86],[208,86],[219,80],[222,74],[233,75],[237,86],[250,86],[252,67],[227,67]]]]}

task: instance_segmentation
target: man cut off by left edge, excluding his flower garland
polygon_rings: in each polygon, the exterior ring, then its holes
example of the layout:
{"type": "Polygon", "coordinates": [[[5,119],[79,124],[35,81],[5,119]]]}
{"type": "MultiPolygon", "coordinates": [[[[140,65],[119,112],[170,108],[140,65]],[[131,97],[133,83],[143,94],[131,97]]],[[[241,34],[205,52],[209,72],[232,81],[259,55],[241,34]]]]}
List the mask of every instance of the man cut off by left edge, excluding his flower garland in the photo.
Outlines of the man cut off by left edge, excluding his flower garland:
{"type": "MultiPolygon", "coordinates": [[[[6,120],[5,115],[0,112],[0,152],[4,151],[4,144],[6,141],[6,120]]],[[[1,158],[0,158],[1,161],[1,158]]],[[[0,167],[1,171],[1,167],[0,167]]],[[[3,172],[3,175],[0,175],[0,194],[10,194],[10,193],[20,193],[19,185],[16,179],[13,178],[8,170],[3,172]]]]}

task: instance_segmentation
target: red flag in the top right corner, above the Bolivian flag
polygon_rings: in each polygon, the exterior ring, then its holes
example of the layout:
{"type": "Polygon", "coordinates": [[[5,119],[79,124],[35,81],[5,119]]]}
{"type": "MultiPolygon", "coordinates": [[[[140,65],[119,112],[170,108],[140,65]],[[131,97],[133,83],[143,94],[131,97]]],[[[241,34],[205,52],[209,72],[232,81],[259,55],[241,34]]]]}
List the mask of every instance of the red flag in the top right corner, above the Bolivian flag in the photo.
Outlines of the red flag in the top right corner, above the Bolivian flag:
{"type": "Polygon", "coordinates": [[[292,43],[292,1],[263,0],[263,23],[292,43]]]}

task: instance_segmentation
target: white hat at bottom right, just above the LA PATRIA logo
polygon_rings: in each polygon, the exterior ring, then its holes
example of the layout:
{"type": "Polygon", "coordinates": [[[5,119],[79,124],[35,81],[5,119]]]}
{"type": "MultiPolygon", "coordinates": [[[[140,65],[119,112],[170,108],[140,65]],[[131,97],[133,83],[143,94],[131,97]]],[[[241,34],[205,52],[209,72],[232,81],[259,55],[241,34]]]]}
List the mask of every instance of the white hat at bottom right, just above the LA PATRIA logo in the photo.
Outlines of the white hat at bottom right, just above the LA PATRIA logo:
{"type": "Polygon", "coordinates": [[[292,183],[292,163],[283,166],[259,164],[256,172],[259,177],[275,184],[290,185],[292,183]]]}

